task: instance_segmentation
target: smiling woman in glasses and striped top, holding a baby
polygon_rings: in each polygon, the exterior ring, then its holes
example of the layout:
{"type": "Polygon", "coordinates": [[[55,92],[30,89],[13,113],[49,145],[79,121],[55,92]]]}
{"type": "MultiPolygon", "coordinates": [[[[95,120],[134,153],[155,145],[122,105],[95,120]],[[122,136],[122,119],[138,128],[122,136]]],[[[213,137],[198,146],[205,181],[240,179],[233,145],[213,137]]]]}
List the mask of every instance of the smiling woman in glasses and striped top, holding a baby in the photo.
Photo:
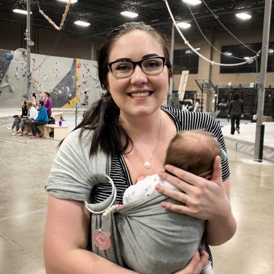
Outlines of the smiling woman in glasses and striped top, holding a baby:
{"type": "MultiPolygon", "coordinates": [[[[138,177],[158,173],[185,192],[158,186],[158,192],[180,202],[178,206],[162,203],[162,207],[208,220],[205,239],[209,245],[221,245],[232,238],[236,221],[229,202],[226,161],[222,162],[224,182],[218,157],[212,181],[174,166],[165,167],[169,173],[163,171],[166,148],[179,130],[207,129],[224,147],[219,124],[212,117],[160,108],[171,77],[169,51],[163,38],[142,23],[126,23],[114,29],[102,45],[98,69],[105,95],[62,143],[46,186],[47,273],[135,273],[87,251],[92,216],[83,201],[90,198],[97,203],[110,195],[108,186],[91,189],[89,185],[96,172],[96,162],[93,166],[90,162],[98,153],[111,156],[109,172],[118,190],[117,203],[138,177]]],[[[207,256],[205,251],[196,253],[177,273],[200,273],[208,263],[207,256]]]]}

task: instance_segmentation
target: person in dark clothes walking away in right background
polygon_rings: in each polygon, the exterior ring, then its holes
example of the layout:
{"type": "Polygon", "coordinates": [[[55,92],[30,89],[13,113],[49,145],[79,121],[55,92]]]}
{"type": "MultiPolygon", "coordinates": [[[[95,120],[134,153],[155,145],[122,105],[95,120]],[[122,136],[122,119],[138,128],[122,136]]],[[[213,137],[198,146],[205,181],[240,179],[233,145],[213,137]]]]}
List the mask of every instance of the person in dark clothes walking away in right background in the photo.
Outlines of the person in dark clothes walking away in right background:
{"type": "Polygon", "coordinates": [[[240,99],[238,92],[232,95],[232,101],[228,108],[228,117],[231,116],[231,129],[230,133],[234,135],[235,132],[235,121],[236,121],[236,131],[240,134],[240,119],[244,116],[244,103],[240,99]]]}

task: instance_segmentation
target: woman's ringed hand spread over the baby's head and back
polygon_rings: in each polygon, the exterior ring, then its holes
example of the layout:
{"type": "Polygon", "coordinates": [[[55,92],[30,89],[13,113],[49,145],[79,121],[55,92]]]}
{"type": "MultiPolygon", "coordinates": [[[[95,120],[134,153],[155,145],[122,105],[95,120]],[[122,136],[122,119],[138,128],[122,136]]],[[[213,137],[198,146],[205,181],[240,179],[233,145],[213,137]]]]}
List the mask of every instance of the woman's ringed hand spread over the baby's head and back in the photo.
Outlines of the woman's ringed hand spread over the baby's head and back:
{"type": "Polygon", "coordinates": [[[175,166],[167,165],[165,169],[174,176],[163,172],[159,174],[161,179],[183,192],[158,184],[156,186],[158,192],[181,202],[179,205],[163,202],[161,203],[163,208],[203,220],[223,219],[231,214],[230,201],[222,181],[219,156],[214,160],[214,171],[210,181],[175,166]]]}

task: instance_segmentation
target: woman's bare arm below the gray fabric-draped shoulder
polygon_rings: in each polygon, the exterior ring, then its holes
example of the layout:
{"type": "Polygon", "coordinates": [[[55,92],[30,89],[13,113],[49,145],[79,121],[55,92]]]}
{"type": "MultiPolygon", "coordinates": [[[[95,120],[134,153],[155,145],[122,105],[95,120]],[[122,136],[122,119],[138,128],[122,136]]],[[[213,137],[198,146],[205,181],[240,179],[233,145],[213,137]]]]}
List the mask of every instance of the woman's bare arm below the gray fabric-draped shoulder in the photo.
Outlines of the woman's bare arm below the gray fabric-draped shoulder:
{"type": "Polygon", "coordinates": [[[85,250],[90,214],[80,201],[49,195],[44,238],[47,274],[136,273],[85,250]]]}

